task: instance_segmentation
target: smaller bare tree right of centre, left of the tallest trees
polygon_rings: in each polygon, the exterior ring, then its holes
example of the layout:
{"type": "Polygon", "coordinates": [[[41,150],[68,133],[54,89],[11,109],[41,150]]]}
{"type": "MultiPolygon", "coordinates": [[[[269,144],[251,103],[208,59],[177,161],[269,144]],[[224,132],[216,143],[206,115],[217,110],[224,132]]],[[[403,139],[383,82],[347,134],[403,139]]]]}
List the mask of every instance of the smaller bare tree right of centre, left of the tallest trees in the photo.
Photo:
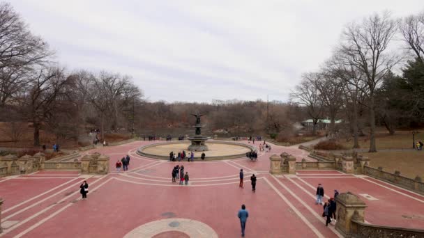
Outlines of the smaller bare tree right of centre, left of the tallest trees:
{"type": "Polygon", "coordinates": [[[323,113],[323,106],[319,90],[315,84],[311,84],[310,80],[317,79],[319,77],[316,73],[303,74],[301,84],[296,86],[293,93],[290,94],[290,98],[295,100],[299,104],[306,106],[308,116],[312,118],[312,134],[317,134],[317,123],[323,113]]]}

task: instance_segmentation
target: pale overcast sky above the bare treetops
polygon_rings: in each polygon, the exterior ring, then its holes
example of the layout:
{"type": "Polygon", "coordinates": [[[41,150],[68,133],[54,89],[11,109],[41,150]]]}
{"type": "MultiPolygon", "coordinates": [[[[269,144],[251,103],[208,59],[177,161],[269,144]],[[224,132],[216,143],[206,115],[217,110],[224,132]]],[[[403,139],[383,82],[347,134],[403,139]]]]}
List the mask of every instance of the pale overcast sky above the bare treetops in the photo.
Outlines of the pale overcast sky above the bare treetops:
{"type": "Polygon", "coordinates": [[[343,27],[422,0],[11,0],[68,70],[128,74],[146,100],[285,101],[343,27]]]}

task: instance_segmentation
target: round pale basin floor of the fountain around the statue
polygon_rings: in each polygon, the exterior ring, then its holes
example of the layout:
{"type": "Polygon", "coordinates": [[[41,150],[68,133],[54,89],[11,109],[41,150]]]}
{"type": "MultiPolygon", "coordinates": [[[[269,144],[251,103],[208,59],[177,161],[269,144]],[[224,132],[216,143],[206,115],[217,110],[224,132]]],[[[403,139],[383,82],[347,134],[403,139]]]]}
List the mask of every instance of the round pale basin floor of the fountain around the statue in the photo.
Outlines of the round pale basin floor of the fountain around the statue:
{"type": "MultiPolygon", "coordinates": [[[[190,141],[172,141],[164,143],[155,143],[151,145],[145,145],[137,150],[137,154],[143,157],[149,157],[153,159],[167,159],[169,160],[169,153],[174,151],[178,154],[185,150],[185,153],[190,152],[188,146],[191,145],[190,141]]],[[[256,150],[252,145],[246,145],[243,143],[236,143],[232,141],[207,141],[209,150],[205,151],[205,160],[216,160],[216,159],[236,159],[245,157],[246,152],[250,150],[256,150]]],[[[200,159],[202,151],[194,152],[195,159],[200,159]]]]}

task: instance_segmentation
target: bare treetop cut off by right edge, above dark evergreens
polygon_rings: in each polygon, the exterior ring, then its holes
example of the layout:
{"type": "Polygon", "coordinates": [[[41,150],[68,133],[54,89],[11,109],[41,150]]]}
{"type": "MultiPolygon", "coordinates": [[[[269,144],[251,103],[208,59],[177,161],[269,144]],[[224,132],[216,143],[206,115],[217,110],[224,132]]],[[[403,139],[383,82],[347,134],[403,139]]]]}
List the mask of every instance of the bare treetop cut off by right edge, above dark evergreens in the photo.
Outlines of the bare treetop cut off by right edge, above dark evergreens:
{"type": "Polygon", "coordinates": [[[409,50],[424,63],[424,11],[400,19],[399,29],[409,50]]]}

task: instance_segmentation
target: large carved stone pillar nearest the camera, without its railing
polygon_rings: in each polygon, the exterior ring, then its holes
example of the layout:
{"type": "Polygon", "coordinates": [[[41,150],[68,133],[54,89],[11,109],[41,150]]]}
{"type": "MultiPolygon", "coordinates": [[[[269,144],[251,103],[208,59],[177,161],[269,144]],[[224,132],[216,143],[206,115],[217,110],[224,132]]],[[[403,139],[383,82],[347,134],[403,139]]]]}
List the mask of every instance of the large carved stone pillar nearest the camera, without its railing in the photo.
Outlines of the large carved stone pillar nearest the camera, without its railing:
{"type": "Polygon", "coordinates": [[[356,229],[352,219],[356,221],[364,221],[365,216],[365,203],[354,193],[340,193],[335,198],[337,203],[337,223],[335,223],[335,230],[338,230],[344,237],[350,237],[352,232],[356,229]]]}

